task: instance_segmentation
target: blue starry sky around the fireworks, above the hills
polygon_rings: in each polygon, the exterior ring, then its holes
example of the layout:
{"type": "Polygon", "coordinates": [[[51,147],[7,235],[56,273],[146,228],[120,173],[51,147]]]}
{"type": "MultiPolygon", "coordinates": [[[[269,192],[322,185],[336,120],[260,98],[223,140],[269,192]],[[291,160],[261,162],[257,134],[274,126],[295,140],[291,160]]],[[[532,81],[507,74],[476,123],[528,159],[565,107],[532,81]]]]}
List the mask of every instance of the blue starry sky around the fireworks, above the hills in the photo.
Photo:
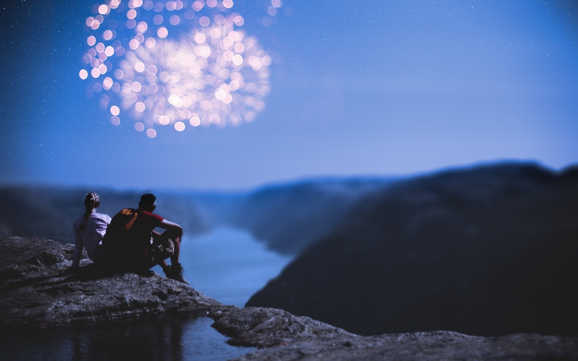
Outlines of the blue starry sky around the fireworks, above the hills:
{"type": "Polygon", "coordinates": [[[265,109],[153,139],[86,97],[94,3],[1,1],[0,183],[238,189],[578,161],[572,1],[286,0],[275,16],[271,1],[235,1],[275,59],[265,109]]]}

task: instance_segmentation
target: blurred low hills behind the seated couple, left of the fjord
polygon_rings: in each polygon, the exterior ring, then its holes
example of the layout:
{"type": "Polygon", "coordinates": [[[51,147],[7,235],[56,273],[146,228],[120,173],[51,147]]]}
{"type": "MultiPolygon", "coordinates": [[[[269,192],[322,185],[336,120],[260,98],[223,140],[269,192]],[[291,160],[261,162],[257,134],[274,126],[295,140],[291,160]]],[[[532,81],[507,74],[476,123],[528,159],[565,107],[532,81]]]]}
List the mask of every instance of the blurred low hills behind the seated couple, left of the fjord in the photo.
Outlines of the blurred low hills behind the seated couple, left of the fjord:
{"type": "MultiPolygon", "coordinates": [[[[98,188],[98,187],[97,187],[98,188]]],[[[144,191],[114,191],[83,187],[2,186],[0,221],[10,225],[20,236],[46,237],[73,243],[72,222],[84,213],[84,196],[97,191],[101,197],[99,213],[112,217],[123,208],[136,208],[144,191]]],[[[208,222],[195,205],[190,193],[155,191],[155,213],[181,224],[186,232],[205,232],[208,222]]]]}

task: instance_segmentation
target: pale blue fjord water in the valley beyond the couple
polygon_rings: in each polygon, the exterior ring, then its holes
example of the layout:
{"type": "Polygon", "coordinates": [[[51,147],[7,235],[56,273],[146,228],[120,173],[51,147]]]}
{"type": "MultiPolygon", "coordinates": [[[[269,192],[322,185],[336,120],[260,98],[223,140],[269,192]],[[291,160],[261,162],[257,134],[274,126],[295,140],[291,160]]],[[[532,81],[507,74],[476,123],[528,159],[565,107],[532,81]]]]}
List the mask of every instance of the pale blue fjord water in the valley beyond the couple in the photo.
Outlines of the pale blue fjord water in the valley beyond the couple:
{"type": "MultiPolygon", "coordinates": [[[[220,227],[181,244],[180,262],[191,286],[224,304],[244,307],[253,293],[291,260],[266,249],[244,230],[220,227]]],[[[163,274],[160,266],[153,268],[163,274]]]]}

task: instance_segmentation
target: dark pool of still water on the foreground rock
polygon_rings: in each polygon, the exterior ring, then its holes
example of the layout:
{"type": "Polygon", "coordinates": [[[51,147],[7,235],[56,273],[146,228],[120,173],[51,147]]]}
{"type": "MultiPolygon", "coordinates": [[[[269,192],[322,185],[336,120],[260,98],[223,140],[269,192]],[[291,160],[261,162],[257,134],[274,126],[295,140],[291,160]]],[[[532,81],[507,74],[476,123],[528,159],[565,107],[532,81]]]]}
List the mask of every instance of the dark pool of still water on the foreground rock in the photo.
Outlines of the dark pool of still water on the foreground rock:
{"type": "Polygon", "coordinates": [[[2,360],[228,360],[234,347],[210,318],[158,315],[0,334],[2,360]]]}

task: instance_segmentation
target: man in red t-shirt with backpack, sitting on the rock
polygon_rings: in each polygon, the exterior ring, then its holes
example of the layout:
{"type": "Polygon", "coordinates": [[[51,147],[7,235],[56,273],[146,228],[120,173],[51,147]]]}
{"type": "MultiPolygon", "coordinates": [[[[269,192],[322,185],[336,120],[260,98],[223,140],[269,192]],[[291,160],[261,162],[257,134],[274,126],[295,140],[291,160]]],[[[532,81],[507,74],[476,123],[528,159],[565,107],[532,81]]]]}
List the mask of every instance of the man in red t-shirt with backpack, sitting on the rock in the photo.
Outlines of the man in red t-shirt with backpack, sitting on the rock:
{"type": "Polygon", "coordinates": [[[183,266],[179,263],[180,241],[183,228],[153,214],[157,198],[146,193],[140,197],[139,208],[125,208],[114,215],[106,230],[103,244],[111,254],[117,255],[117,263],[131,268],[150,269],[161,265],[166,277],[183,282],[183,266]],[[155,228],[164,228],[158,233],[155,228]],[[169,266],[165,259],[171,258],[169,266]]]}

